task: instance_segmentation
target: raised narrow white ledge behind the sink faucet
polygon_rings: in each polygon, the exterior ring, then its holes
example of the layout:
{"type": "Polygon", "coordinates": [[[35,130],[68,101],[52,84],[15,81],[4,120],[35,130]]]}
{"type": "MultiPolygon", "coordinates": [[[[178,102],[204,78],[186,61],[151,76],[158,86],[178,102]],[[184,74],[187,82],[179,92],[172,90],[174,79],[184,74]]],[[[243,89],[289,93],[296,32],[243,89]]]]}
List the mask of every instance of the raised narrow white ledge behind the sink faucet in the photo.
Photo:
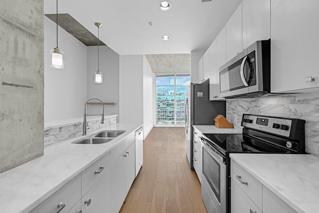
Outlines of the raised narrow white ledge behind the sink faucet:
{"type": "MultiPolygon", "coordinates": [[[[118,115],[104,115],[104,119],[116,117],[116,116],[118,116],[118,115]]],[[[99,120],[99,119],[101,119],[100,115],[87,116],[87,118],[86,118],[87,121],[94,121],[94,120],[99,120]]],[[[45,122],[44,129],[58,128],[61,126],[78,124],[78,123],[83,123],[83,117],[45,122]]]]}

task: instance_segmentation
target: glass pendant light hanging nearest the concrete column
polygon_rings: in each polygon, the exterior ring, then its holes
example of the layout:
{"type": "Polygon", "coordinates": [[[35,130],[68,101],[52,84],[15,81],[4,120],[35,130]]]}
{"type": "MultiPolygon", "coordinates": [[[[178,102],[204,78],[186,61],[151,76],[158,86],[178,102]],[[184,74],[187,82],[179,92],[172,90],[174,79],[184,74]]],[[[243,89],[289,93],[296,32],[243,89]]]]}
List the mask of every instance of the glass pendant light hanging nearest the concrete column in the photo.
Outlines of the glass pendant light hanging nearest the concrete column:
{"type": "Polygon", "coordinates": [[[64,52],[58,48],[58,0],[56,0],[56,48],[50,50],[50,67],[64,69],[64,52]]]}

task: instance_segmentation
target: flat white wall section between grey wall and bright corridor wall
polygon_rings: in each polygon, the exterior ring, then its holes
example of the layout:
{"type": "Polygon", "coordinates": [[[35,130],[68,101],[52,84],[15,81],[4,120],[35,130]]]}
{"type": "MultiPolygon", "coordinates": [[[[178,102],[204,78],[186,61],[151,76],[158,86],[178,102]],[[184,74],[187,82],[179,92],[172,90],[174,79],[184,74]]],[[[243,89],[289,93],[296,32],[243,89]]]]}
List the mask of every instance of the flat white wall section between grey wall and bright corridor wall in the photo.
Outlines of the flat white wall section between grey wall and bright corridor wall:
{"type": "Polygon", "coordinates": [[[143,55],[120,55],[120,123],[143,124],[143,55]]]}

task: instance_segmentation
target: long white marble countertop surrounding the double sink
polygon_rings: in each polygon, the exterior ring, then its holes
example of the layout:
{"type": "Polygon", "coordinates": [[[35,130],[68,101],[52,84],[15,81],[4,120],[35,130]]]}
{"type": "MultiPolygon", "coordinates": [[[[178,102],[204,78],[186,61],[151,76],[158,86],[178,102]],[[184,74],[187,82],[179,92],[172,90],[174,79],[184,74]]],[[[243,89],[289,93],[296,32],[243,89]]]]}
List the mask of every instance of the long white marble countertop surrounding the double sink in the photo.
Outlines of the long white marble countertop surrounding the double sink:
{"type": "Polygon", "coordinates": [[[109,152],[142,124],[117,124],[125,133],[105,144],[72,144],[93,135],[70,139],[44,148],[44,155],[0,174],[0,207],[3,213],[27,213],[92,163],[109,152]]]}

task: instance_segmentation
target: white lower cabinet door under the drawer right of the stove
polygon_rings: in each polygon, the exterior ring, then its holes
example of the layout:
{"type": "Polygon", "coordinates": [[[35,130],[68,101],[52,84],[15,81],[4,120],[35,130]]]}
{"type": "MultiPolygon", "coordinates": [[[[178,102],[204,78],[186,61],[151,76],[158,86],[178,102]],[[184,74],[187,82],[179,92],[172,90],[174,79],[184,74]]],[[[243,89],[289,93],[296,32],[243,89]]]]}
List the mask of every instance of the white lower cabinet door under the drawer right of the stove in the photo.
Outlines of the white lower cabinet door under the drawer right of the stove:
{"type": "MultiPolygon", "coordinates": [[[[231,178],[230,206],[232,213],[262,213],[250,198],[240,189],[231,178]]],[[[272,212],[279,213],[279,212],[272,212]]]]}

